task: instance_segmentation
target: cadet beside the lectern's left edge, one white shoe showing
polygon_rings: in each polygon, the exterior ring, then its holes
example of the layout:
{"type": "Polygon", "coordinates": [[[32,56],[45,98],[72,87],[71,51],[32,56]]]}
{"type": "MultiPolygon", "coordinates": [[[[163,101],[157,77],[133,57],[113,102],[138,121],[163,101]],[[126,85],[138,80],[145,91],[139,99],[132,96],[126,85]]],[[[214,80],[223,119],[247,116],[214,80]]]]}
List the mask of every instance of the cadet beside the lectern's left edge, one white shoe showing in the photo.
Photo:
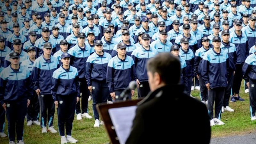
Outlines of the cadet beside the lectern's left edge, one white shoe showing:
{"type": "MultiPolygon", "coordinates": [[[[100,126],[100,116],[96,104],[105,103],[108,100],[109,91],[107,85],[107,66],[111,55],[103,51],[103,43],[96,40],[95,52],[86,61],[86,80],[89,91],[92,93],[92,109],[94,114],[94,127],[100,126]]],[[[102,124],[102,123],[101,123],[102,124]]]]}

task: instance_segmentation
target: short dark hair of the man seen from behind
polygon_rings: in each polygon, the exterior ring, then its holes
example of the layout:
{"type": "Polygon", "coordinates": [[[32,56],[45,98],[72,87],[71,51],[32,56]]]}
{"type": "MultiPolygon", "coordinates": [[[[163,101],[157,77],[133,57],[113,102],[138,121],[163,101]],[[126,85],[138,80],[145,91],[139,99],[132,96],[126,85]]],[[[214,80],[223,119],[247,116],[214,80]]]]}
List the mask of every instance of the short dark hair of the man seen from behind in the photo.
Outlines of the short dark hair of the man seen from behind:
{"type": "Polygon", "coordinates": [[[170,52],[157,54],[148,60],[147,70],[158,73],[165,84],[178,84],[180,82],[180,60],[170,52]]]}

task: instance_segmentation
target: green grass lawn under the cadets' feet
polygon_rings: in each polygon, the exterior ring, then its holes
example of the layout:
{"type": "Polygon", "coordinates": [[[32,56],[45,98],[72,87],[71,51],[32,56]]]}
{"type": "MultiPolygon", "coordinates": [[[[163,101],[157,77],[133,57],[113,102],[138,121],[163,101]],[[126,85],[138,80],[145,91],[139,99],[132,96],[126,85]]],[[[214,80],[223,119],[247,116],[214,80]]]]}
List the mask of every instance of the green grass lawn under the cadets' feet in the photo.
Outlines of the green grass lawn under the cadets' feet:
{"type": "MultiPolygon", "coordinates": [[[[244,84],[244,83],[243,83],[244,84]]],[[[249,111],[249,95],[244,93],[244,86],[240,91],[240,96],[245,101],[230,103],[230,107],[235,109],[235,112],[226,112],[222,114],[221,120],[225,125],[213,126],[212,137],[220,137],[227,135],[246,134],[256,132],[256,121],[252,122],[249,111]]],[[[199,91],[192,91],[192,95],[199,99],[199,91]]],[[[189,111],[188,111],[189,112],[189,111]]],[[[89,102],[89,114],[93,116],[92,101],[89,102]]],[[[57,126],[57,112],[55,111],[54,127],[58,130],[57,126]]],[[[188,121],[189,122],[189,121],[188,121]]],[[[24,132],[24,142],[26,144],[55,144],[60,143],[59,133],[52,134],[50,132],[41,134],[42,129],[40,126],[32,125],[26,126],[24,132]]],[[[76,117],[73,123],[72,136],[78,140],[79,143],[88,144],[102,144],[108,143],[108,136],[103,126],[94,128],[94,119],[83,119],[77,121],[76,117]]],[[[5,126],[5,133],[7,134],[7,121],[5,126]]],[[[8,144],[8,138],[0,138],[0,144],[8,144]]]]}

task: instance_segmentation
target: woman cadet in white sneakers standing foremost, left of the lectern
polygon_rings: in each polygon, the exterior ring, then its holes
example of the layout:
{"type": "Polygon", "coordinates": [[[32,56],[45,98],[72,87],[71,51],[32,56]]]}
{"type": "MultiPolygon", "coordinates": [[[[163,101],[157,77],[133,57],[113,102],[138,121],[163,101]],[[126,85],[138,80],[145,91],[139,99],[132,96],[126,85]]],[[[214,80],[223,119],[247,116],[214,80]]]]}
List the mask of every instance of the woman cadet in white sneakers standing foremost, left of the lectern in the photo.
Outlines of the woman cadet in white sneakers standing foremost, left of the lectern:
{"type": "Polygon", "coordinates": [[[61,55],[62,65],[52,75],[52,98],[57,108],[58,127],[61,136],[61,144],[76,143],[71,137],[72,123],[74,120],[76,103],[79,100],[79,77],[75,67],[69,65],[70,54],[61,55]],[[67,138],[65,137],[65,128],[67,138]]]}

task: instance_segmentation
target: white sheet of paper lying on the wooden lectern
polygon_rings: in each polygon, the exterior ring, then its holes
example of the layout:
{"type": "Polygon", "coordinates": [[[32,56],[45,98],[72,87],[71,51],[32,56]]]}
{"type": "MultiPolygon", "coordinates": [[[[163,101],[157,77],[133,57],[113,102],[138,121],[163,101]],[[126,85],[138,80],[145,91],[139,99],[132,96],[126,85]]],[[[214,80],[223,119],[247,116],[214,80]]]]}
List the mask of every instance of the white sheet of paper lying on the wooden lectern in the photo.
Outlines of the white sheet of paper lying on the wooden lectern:
{"type": "Polygon", "coordinates": [[[108,109],[120,144],[124,144],[130,134],[136,108],[137,106],[129,106],[108,109]]]}

